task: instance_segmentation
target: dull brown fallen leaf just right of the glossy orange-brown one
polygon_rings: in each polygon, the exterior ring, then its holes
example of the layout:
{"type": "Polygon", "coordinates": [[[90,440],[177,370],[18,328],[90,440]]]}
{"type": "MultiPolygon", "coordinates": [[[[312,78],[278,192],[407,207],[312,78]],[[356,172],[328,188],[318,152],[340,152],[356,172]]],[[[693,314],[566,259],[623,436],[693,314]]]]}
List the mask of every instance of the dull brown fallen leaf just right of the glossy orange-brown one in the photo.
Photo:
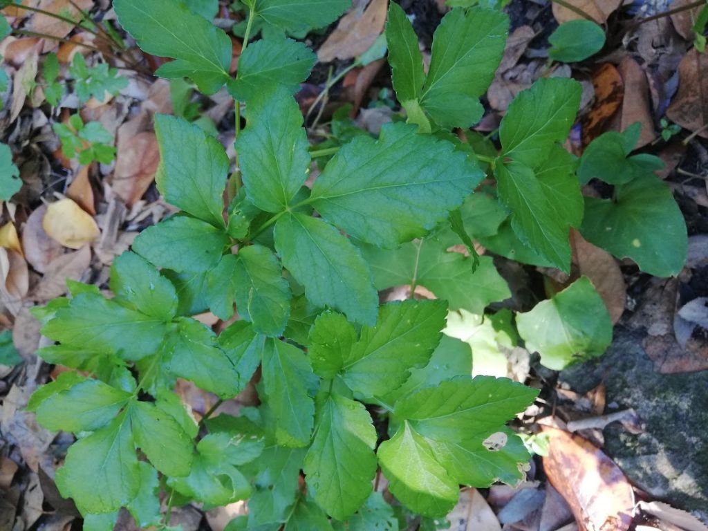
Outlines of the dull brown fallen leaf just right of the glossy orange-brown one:
{"type": "Polygon", "coordinates": [[[634,149],[646,146],[656,138],[654,121],[651,117],[651,102],[649,101],[649,83],[646,74],[632,57],[624,57],[617,67],[624,84],[622,105],[612,120],[612,129],[624,131],[634,122],[641,124],[639,142],[634,149]]]}

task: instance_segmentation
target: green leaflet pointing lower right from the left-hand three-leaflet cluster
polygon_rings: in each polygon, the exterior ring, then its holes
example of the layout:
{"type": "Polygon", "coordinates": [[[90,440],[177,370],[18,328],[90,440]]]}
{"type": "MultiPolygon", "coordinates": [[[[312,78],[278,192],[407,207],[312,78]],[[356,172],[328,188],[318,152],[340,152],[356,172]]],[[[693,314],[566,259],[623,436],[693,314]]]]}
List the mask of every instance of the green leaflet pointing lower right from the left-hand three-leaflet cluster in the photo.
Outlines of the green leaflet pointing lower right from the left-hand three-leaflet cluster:
{"type": "Polygon", "coordinates": [[[168,338],[165,367],[222,399],[241,391],[234,362],[217,346],[215,334],[193,319],[181,319],[178,334],[168,338]]]}

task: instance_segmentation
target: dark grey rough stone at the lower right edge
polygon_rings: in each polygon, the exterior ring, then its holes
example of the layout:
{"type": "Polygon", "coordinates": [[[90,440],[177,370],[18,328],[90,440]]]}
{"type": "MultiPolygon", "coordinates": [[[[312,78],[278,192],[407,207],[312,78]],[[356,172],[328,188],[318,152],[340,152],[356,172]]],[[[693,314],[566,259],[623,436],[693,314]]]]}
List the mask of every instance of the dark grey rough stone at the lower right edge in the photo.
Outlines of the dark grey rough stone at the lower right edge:
{"type": "Polygon", "coordinates": [[[605,452],[652,498],[708,522],[708,370],[658,374],[641,341],[617,327],[603,358],[569,367],[560,380],[581,393],[605,382],[607,404],[634,408],[645,432],[611,424],[605,452]]]}

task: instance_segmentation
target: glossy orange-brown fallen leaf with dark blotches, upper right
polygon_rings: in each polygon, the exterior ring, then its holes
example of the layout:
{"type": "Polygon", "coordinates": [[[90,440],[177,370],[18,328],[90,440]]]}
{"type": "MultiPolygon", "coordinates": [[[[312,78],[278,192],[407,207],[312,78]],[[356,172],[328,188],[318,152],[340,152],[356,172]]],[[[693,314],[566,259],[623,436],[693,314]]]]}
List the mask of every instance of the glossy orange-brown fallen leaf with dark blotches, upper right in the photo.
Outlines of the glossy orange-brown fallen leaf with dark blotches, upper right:
{"type": "Polygon", "coordinates": [[[605,125],[610,122],[619,106],[622,105],[624,96],[622,76],[610,63],[603,64],[593,72],[593,86],[595,87],[595,103],[581,120],[583,145],[585,146],[604,132],[605,125]]]}

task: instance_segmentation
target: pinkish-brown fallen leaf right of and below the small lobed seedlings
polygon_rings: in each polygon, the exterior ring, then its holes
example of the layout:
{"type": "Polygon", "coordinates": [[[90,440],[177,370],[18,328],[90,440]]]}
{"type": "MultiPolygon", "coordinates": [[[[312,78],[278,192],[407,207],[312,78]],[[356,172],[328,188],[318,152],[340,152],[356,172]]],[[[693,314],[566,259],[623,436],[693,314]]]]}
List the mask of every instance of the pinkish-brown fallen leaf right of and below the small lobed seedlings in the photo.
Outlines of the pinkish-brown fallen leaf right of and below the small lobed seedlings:
{"type": "Polygon", "coordinates": [[[127,205],[142,198],[154,181],[160,153],[154,132],[128,135],[125,122],[118,128],[118,156],[113,172],[113,191],[127,205]]]}

